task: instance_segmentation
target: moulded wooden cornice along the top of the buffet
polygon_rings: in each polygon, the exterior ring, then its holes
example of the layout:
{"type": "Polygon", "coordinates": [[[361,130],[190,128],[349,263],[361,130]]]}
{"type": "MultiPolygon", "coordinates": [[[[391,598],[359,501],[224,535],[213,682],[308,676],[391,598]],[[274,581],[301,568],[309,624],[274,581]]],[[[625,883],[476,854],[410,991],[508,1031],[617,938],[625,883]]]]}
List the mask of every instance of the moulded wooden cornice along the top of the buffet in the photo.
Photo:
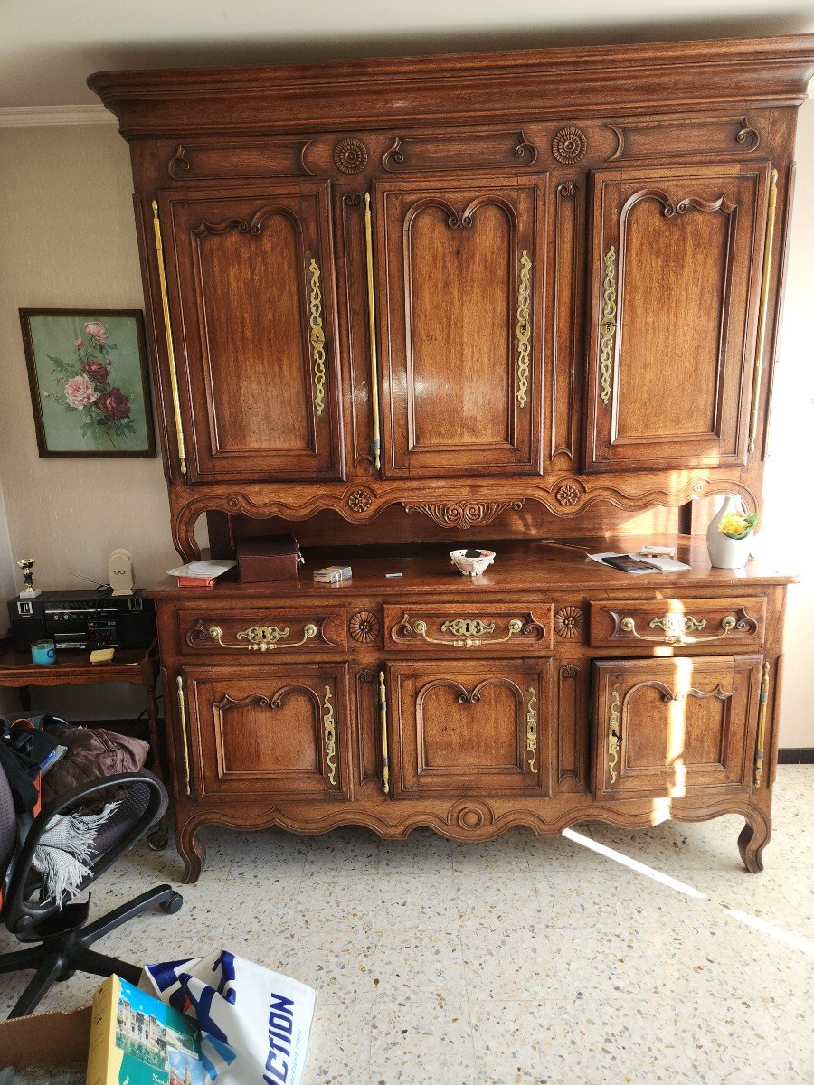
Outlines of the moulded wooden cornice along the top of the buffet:
{"type": "Polygon", "coordinates": [[[126,138],[192,133],[391,130],[405,115],[483,125],[529,116],[619,116],[656,105],[799,105],[814,74],[805,35],[593,46],[314,65],[99,72],[88,80],[126,138]],[[467,92],[462,93],[461,88],[467,92]],[[239,103],[236,107],[236,103],[239,103]]]}

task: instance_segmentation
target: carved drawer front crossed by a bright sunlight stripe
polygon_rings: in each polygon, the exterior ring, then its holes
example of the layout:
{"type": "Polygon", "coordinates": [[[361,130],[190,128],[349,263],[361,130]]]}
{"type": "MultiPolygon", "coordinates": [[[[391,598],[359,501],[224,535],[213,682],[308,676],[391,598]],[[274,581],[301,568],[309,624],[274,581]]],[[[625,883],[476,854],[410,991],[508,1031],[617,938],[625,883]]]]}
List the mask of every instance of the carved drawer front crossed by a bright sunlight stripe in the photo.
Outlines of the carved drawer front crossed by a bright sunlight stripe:
{"type": "Polygon", "coordinates": [[[648,648],[711,643],[760,648],[766,627],[765,598],[610,599],[590,603],[594,648],[648,648]]]}

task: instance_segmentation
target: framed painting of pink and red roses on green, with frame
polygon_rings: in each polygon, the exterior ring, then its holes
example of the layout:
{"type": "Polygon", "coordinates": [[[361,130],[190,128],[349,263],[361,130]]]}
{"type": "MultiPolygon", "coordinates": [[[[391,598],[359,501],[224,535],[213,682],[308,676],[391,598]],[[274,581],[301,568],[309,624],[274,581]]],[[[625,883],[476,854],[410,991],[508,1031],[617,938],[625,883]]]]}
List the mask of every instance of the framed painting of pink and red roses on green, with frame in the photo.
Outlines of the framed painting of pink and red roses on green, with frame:
{"type": "Polygon", "coordinates": [[[44,456],[155,456],[139,309],[21,309],[44,456]]]}

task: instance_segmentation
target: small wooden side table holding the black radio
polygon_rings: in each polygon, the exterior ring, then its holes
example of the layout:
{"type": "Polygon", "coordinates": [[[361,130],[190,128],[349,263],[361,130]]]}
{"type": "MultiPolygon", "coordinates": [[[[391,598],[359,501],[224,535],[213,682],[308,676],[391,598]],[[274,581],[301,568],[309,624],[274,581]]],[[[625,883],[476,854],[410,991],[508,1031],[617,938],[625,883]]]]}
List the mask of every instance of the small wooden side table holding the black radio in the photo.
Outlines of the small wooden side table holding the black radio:
{"type": "MultiPolygon", "coordinates": [[[[10,640],[0,640],[0,687],[18,689],[24,709],[30,709],[31,686],[97,686],[105,681],[142,686],[147,693],[147,718],[153,771],[163,781],[162,743],[158,736],[158,641],[150,648],[117,648],[110,663],[91,663],[88,652],[59,652],[50,665],[31,663],[28,652],[16,652],[10,640]]],[[[166,818],[148,837],[154,850],[167,846],[166,818]]]]}

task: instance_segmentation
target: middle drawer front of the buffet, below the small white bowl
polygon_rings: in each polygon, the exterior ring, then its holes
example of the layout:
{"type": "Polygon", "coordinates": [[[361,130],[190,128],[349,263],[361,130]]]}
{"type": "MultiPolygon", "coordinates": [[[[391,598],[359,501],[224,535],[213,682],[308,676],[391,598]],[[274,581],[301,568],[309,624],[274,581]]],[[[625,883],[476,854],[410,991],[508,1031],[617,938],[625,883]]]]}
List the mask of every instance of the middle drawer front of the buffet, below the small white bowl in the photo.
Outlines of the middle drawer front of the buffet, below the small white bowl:
{"type": "Polygon", "coordinates": [[[494,648],[501,655],[536,655],[552,650],[551,607],[527,603],[442,603],[416,610],[384,607],[385,649],[438,654],[446,648],[478,655],[494,648]]]}

